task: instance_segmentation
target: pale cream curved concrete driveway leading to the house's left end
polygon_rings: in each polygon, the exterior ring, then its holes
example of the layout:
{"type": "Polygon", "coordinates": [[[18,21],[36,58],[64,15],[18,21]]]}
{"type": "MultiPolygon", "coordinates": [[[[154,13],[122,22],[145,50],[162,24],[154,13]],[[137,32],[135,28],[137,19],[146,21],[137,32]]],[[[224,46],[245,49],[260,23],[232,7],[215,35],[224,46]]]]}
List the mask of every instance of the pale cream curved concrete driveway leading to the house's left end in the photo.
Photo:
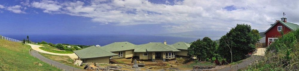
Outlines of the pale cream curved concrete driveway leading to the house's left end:
{"type": "Polygon", "coordinates": [[[43,46],[33,45],[33,44],[28,44],[28,45],[30,45],[32,49],[34,49],[34,50],[36,50],[38,52],[47,53],[47,54],[53,54],[53,55],[69,56],[71,59],[77,59],[78,58],[78,56],[75,53],[72,53],[72,54],[52,53],[52,52],[48,52],[48,51],[44,51],[42,49],[39,49],[39,47],[43,47],[43,46]]]}

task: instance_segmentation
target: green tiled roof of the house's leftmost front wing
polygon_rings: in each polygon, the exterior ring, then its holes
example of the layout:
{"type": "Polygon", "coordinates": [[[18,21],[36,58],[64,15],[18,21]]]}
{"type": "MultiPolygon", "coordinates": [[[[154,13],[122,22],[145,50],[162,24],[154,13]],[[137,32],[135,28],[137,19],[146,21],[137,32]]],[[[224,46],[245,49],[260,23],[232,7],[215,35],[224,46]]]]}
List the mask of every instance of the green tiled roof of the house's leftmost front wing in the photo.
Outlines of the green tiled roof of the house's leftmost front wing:
{"type": "Polygon", "coordinates": [[[76,51],[74,51],[74,53],[80,59],[117,56],[117,54],[114,54],[114,53],[108,52],[108,51],[104,51],[96,46],[90,46],[85,49],[76,50],[76,51]]]}

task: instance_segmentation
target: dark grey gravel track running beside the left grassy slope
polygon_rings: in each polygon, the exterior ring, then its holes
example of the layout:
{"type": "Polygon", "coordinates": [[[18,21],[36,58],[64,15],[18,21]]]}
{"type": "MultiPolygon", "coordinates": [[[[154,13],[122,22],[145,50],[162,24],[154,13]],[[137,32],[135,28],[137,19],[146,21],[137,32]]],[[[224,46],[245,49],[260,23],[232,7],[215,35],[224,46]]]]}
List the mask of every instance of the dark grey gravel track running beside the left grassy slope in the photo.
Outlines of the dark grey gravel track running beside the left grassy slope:
{"type": "Polygon", "coordinates": [[[56,67],[59,67],[59,68],[62,69],[62,70],[66,70],[66,71],[84,71],[84,70],[82,70],[82,69],[78,69],[78,68],[75,68],[75,67],[71,67],[71,66],[62,64],[62,63],[60,63],[60,62],[57,62],[57,61],[53,61],[53,60],[51,60],[51,59],[48,59],[48,58],[42,56],[41,54],[39,54],[38,51],[36,51],[36,50],[31,49],[31,50],[30,50],[30,53],[31,53],[31,55],[32,55],[33,57],[36,57],[36,58],[38,58],[38,59],[40,59],[40,60],[42,60],[43,62],[46,62],[46,63],[48,63],[48,64],[54,65],[54,66],[56,66],[56,67]]]}

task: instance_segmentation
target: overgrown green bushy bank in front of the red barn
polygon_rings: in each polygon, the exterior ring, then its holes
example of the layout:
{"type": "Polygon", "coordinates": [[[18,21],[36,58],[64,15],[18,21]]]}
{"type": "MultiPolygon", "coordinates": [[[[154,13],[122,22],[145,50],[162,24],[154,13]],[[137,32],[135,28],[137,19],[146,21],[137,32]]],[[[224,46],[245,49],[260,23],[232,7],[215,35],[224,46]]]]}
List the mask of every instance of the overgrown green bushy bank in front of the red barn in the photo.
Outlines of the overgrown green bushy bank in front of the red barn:
{"type": "Polygon", "coordinates": [[[248,67],[248,71],[298,71],[299,30],[284,34],[273,42],[265,57],[248,67]]]}

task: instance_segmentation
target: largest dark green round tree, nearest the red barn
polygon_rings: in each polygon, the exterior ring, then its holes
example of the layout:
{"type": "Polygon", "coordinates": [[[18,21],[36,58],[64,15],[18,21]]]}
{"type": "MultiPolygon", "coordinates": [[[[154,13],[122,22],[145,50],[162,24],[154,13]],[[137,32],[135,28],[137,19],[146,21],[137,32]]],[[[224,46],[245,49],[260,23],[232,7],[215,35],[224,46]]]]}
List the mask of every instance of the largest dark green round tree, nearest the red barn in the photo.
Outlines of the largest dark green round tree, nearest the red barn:
{"type": "Polygon", "coordinates": [[[236,62],[245,59],[245,55],[255,49],[256,42],[257,39],[251,33],[250,25],[237,24],[219,39],[218,52],[228,61],[236,62]]]}

